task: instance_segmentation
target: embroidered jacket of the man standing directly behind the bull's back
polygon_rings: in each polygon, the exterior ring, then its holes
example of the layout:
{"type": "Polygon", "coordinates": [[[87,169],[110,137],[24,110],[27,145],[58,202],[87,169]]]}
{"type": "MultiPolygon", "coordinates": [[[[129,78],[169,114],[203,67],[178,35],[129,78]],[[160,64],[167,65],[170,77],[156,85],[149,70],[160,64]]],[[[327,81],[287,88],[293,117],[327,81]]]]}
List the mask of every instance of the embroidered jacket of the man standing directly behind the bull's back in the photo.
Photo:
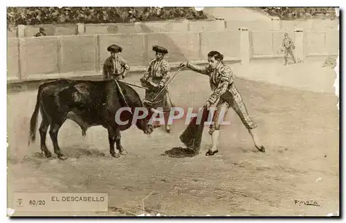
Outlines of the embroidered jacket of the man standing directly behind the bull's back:
{"type": "Polygon", "coordinates": [[[127,72],[129,72],[129,65],[120,56],[116,58],[108,57],[103,62],[103,79],[109,79],[110,75],[122,75],[122,77],[125,77],[127,72]]]}

